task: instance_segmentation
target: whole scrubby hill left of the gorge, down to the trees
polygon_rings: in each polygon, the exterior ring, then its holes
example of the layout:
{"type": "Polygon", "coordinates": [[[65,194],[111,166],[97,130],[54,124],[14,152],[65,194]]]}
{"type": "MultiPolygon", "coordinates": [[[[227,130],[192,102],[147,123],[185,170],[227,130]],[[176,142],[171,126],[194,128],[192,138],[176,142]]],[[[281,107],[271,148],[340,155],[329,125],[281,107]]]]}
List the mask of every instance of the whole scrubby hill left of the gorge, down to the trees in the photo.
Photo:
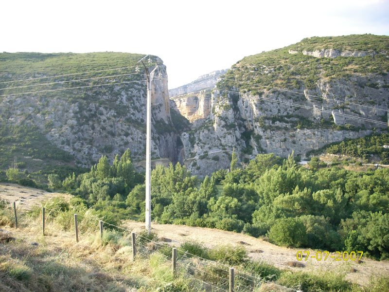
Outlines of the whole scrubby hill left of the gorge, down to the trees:
{"type": "MultiPolygon", "coordinates": [[[[124,153],[127,147],[134,159],[142,160],[146,86],[145,76],[136,71],[142,57],[112,52],[1,53],[0,171],[16,158],[19,169],[47,183],[50,173],[63,179],[82,166],[95,164],[103,153],[112,161],[114,153],[124,153]],[[58,170],[61,167],[67,173],[58,170]]],[[[158,62],[158,73],[165,76],[162,61],[152,55],[150,61],[158,62]]],[[[163,90],[163,84],[159,87],[163,90]]],[[[155,109],[153,105],[155,159],[171,158],[173,154],[159,144],[177,141],[169,136],[176,129],[169,109],[160,108],[162,95],[156,93],[155,109]]]]}

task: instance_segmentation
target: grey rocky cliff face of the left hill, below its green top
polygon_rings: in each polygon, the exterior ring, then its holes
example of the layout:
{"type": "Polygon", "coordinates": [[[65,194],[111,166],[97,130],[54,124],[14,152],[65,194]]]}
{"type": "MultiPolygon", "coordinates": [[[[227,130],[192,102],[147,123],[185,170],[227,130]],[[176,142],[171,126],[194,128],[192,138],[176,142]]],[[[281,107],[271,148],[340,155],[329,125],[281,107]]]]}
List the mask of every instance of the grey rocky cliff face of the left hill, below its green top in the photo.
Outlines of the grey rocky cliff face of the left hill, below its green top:
{"type": "MultiPolygon", "coordinates": [[[[153,57],[153,61],[159,63],[156,76],[160,74],[161,78],[152,82],[152,159],[177,162],[178,136],[170,116],[166,67],[158,57],[153,57]]],[[[106,77],[99,82],[124,84],[4,96],[0,99],[1,122],[38,126],[56,146],[71,153],[77,164],[90,166],[102,155],[113,160],[127,148],[134,160],[144,160],[146,83],[141,74],[131,77],[139,82],[125,83],[118,77],[106,77]]],[[[12,78],[22,79],[15,75],[12,78]]]]}

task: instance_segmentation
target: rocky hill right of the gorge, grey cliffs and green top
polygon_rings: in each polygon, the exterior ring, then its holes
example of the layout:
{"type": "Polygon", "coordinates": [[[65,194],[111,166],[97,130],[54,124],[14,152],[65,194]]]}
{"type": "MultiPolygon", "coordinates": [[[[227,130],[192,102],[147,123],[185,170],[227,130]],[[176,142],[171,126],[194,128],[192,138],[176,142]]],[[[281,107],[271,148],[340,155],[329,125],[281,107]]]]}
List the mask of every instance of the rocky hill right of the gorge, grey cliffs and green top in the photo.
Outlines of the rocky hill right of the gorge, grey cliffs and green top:
{"type": "Polygon", "coordinates": [[[389,37],[363,35],[307,38],[244,58],[209,99],[173,98],[192,123],[181,134],[185,164],[204,175],[228,167],[233,148],[241,162],[270,152],[306,158],[325,144],[387,131],[388,55],[389,37]]]}

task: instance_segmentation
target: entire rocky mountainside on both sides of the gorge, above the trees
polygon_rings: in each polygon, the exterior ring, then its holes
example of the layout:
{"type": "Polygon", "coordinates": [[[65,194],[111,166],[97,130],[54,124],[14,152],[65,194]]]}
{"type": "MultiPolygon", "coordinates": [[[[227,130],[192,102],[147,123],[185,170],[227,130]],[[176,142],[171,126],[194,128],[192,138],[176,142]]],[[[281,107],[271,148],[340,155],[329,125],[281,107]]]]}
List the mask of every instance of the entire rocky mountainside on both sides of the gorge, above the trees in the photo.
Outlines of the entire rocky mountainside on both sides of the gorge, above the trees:
{"type": "MultiPolygon", "coordinates": [[[[285,157],[294,151],[306,158],[326,144],[387,131],[388,52],[386,36],[306,38],[245,57],[226,73],[202,76],[170,91],[180,94],[170,101],[166,67],[153,56],[151,64],[158,63],[159,70],[152,89],[152,158],[185,163],[205,176],[228,168],[233,148],[241,163],[269,152],[285,157]],[[197,86],[214,87],[216,75],[214,89],[197,86]]],[[[34,142],[39,139],[56,147],[51,156],[63,151],[56,165],[66,153],[72,164],[90,166],[126,148],[141,165],[146,84],[135,68],[142,56],[0,54],[1,169],[10,167],[15,156],[22,164],[45,160],[48,155],[39,151],[47,150],[34,142]],[[31,79],[38,77],[45,79],[31,79]],[[42,139],[29,139],[33,127],[42,139]],[[23,135],[24,140],[12,140],[23,135]]]]}

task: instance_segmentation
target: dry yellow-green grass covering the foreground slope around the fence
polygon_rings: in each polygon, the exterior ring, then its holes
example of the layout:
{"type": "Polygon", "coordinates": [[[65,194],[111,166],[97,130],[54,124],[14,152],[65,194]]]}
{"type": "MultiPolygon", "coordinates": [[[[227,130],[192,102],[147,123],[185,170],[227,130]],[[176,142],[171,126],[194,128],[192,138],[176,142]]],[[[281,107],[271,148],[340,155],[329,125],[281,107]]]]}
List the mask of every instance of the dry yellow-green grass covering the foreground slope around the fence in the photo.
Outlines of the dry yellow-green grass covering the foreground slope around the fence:
{"type": "MultiPolygon", "coordinates": [[[[142,256],[140,248],[139,255],[132,260],[130,244],[118,231],[105,230],[100,238],[96,225],[94,230],[81,232],[80,241],[76,243],[70,231],[73,227],[64,226],[63,218],[49,217],[46,236],[42,237],[42,218],[36,210],[20,217],[20,228],[17,230],[10,226],[12,222],[8,217],[7,213],[0,213],[0,227],[10,230],[11,235],[18,239],[0,244],[0,291],[212,291],[211,286],[191,279],[194,277],[228,289],[228,284],[220,279],[228,279],[228,265],[200,261],[197,257],[185,257],[181,253],[177,273],[173,275],[169,260],[171,248],[167,246],[158,250],[156,245],[144,244],[151,248],[151,255],[142,256]],[[37,244],[32,245],[31,242],[37,244]]],[[[158,240],[155,235],[150,238],[158,240]]],[[[144,239],[143,243],[146,241],[150,239],[144,239]]],[[[248,260],[243,246],[209,249],[196,242],[185,242],[178,249],[233,265],[237,271],[235,284],[238,292],[239,287],[252,285],[254,279],[238,271],[255,275],[257,282],[259,279],[267,281],[255,288],[255,292],[274,291],[276,284],[304,292],[378,292],[388,291],[389,287],[389,277],[372,279],[371,285],[360,288],[346,281],[342,271],[314,274],[281,270],[260,261],[248,260]]]]}

